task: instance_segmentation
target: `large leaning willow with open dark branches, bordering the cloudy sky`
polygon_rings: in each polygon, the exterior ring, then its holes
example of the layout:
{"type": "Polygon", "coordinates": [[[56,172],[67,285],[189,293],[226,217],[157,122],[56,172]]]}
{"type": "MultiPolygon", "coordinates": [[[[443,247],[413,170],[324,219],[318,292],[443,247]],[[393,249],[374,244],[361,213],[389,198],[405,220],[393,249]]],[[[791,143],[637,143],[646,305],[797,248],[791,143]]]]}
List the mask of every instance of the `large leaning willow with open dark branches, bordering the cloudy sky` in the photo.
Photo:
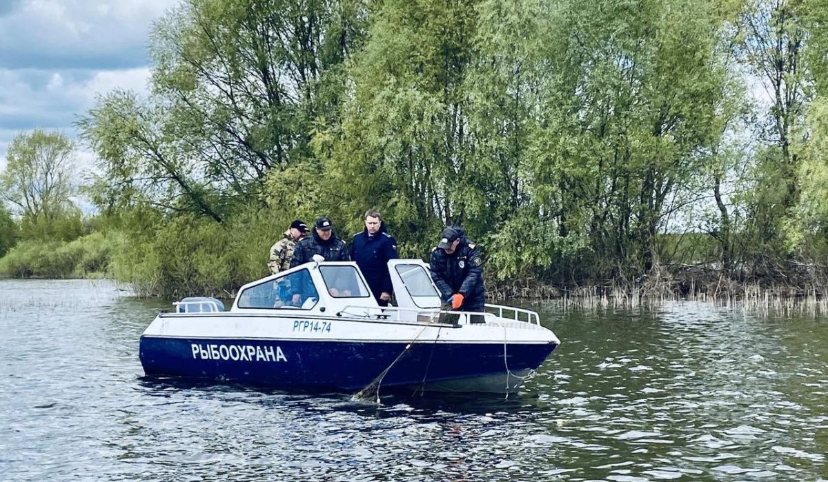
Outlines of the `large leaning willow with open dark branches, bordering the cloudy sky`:
{"type": "Polygon", "coordinates": [[[318,179],[310,140],[339,116],[363,21],[359,0],[185,0],[156,23],[150,94],[104,95],[79,121],[99,159],[94,200],[128,231],[119,279],[233,292],[266,272],[301,214],[278,194],[318,179]]]}

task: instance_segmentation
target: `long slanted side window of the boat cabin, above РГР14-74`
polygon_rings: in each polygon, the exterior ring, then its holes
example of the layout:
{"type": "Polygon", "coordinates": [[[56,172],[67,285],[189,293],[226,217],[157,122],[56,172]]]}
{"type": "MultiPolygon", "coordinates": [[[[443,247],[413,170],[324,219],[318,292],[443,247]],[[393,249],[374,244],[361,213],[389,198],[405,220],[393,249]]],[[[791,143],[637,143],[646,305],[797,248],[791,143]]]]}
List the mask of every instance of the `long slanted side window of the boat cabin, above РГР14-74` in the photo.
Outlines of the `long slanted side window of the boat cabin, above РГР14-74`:
{"type": "Polygon", "coordinates": [[[238,297],[238,307],[310,310],[318,300],[310,272],[303,269],[247,288],[238,297]]]}

